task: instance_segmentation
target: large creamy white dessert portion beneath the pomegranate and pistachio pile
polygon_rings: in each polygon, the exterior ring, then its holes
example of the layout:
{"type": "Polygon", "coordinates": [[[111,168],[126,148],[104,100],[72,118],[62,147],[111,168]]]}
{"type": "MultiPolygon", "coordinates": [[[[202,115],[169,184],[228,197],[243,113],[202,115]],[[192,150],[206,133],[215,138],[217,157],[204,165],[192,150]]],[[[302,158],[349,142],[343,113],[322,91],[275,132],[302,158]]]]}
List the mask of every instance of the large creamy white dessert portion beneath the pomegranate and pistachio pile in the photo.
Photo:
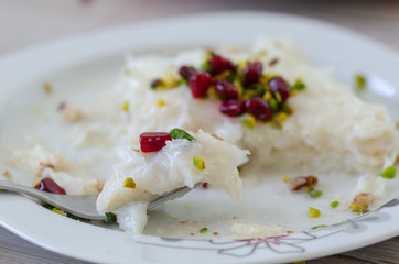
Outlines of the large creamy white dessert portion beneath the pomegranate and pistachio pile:
{"type": "Polygon", "coordinates": [[[129,101],[130,135],[174,127],[217,133],[252,152],[255,174],[260,167],[301,167],[376,176],[393,163],[398,133],[386,109],[358,99],[331,70],[312,66],[290,41],[262,38],[249,51],[224,47],[217,52],[234,63],[261,62],[265,74],[281,75],[291,84],[300,78],[306,89],[288,100],[292,114],[280,125],[257,122],[248,129],[240,118],[222,114],[216,99],[194,99],[185,85],[166,91],[150,89],[149,84],[160,76],[177,76],[182,65],[199,67],[206,51],[186,51],[175,57],[140,56],[128,62],[117,85],[121,101],[129,101]],[[278,62],[270,65],[272,59],[278,62]]]}

